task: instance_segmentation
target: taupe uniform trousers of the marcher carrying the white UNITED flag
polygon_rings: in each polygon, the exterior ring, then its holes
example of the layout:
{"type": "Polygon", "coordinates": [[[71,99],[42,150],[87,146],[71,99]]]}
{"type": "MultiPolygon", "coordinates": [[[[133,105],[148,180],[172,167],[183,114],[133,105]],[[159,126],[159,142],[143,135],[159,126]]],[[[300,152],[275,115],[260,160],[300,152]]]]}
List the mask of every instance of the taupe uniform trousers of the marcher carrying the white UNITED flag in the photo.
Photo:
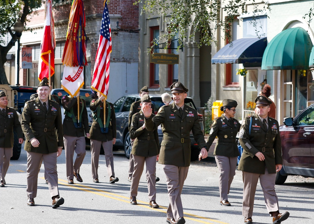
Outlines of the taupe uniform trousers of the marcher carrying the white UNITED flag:
{"type": "Polygon", "coordinates": [[[65,149],[65,159],[67,165],[67,177],[68,180],[73,179],[73,170],[75,173],[79,173],[86,151],[85,151],[85,137],[76,137],[63,135],[63,143],[65,149]],[[76,153],[76,159],[73,165],[74,151],[76,153]]]}

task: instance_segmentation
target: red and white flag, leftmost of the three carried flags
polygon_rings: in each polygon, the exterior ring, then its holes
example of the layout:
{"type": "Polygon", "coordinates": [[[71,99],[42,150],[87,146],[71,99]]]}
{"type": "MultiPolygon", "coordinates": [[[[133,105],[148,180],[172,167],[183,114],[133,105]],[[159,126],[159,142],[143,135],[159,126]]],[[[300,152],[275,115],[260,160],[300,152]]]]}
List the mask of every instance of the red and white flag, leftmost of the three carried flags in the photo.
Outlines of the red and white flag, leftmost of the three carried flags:
{"type": "Polygon", "coordinates": [[[56,39],[54,33],[54,21],[52,17],[51,0],[47,0],[45,4],[45,24],[44,36],[40,46],[40,57],[38,61],[38,79],[41,81],[43,77],[49,79],[49,53],[50,53],[50,72],[51,76],[55,73],[55,54],[56,39]]]}

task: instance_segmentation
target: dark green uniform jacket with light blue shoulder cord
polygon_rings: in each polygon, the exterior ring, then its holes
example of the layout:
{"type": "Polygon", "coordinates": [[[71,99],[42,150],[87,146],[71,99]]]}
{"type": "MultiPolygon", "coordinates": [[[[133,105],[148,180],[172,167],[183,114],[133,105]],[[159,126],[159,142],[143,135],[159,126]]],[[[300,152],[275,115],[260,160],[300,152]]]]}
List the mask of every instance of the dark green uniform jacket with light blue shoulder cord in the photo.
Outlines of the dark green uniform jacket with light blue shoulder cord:
{"type": "Polygon", "coordinates": [[[264,130],[263,122],[257,114],[246,117],[241,126],[239,141],[243,153],[238,169],[249,173],[276,173],[276,164],[282,164],[281,140],[278,121],[268,117],[268,130],[264,130]],[[252,119],[252,124],[250,121],[252,119]],[[249,133],[251,126],[251,134],[249,133]],[[260,161],[255,154],[262,152],[265,160],[260,161]]]}

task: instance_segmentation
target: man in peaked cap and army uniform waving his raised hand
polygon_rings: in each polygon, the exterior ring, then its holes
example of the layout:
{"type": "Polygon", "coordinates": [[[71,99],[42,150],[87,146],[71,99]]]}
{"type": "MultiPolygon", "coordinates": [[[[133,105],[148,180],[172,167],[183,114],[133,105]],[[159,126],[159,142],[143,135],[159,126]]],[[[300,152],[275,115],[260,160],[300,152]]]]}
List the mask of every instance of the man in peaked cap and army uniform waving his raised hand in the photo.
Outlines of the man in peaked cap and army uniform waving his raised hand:
{"type": "Polygon", "coordinates": [[[148,105],[143,107],[145,126],[148,131],[161,125],[163,140],[161,142],[159,162],[166,174],[170,204],[167,210],[167,223],[184,224],[181,191],[191,160],[190,131],[201,148],[199,159],[206,158],[207,147],[195,109],[184,104],[188,89],[180,82],[172,83],[173,103],[162,106],[156,116],[148,105]]]}

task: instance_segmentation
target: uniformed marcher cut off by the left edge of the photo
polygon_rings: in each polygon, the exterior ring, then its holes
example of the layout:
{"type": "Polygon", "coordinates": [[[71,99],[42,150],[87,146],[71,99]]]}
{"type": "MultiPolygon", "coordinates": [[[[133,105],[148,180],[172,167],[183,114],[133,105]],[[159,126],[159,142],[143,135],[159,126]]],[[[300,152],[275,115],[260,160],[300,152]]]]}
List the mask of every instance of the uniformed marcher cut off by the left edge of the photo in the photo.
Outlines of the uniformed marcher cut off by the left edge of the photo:
{"type": "Polygon", "coordinates": [[[8,107],[8,98],[5,92],[0,91],[0,187],[4,187],[5,174],[10,165],[10,158],[13,155],[13,127],[23,143],[23,132],[19,122],[19,116],[15,109],[8,107]]]}

